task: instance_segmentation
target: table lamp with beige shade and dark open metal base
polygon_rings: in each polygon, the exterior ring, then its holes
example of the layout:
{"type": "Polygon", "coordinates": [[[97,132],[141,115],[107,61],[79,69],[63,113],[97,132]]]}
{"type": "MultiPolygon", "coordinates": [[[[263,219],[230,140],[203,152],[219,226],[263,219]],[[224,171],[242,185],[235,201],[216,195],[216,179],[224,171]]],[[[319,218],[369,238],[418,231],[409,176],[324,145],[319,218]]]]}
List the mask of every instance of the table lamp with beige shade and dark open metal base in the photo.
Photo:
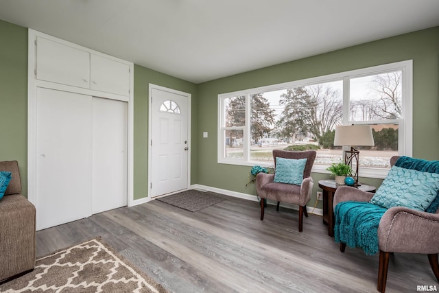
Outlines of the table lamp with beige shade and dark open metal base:
{"type": "Polygon", "coordinates": [[[354,148],[354,145],[375,145],[372,128],[368,125],[336,126],[334,145],[351,147],[351,150],[344,150],[344,163],[350,165],[354,171],[350,174],[355,180],[354,185],[361,185],[361,183],[358,182],[359,151],[354,148]]]}

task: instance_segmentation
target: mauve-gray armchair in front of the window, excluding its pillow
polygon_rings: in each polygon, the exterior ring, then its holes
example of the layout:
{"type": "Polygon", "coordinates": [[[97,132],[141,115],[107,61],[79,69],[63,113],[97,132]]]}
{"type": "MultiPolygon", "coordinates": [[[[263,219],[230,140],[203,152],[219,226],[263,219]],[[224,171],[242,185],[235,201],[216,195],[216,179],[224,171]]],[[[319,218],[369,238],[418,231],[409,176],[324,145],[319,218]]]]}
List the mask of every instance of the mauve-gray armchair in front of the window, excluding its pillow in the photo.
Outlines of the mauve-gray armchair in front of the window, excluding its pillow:
{"type": "Polygon", "coordinates": [[[303,230],[303,215],[308,216],[307,203],[311,199],[313,190],[313,178],[311,178],[311,168],[316,159],[316,151],[307,150],[304,152],[290,152],[286,150],[273,150],[274,165],[276,166],[276,158],[285,159],[307,159],[305,170],[303,172],[303,180],[301,185],[276,183],[274,182],[274,174],[259,173],[256,177],[256,190],[261,198],[261,221],[264,215],[264,199],[276,200],[276,211],[279,210],[280,202],[289,204],[297,204],[299,206],[299,232],[303,230]]]}

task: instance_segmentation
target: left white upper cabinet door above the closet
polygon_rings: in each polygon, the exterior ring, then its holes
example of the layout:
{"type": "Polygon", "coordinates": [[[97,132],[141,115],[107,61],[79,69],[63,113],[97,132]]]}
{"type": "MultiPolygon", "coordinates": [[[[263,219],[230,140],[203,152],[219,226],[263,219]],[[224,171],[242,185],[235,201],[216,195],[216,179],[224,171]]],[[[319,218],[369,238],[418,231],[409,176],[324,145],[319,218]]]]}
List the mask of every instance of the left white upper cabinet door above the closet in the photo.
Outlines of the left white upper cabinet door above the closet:
{"type": "Polygon", "coordinates": [[[90,53],[40,37],[36,46],[38,80],[90,88],[90,53]]]}

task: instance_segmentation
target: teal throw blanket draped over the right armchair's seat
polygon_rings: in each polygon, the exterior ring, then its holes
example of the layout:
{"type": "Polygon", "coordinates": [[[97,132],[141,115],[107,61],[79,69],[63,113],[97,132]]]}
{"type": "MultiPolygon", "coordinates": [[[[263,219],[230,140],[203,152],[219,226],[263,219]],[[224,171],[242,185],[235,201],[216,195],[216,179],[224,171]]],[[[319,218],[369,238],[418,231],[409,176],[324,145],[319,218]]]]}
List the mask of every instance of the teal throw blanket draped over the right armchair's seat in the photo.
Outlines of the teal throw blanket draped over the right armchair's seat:
{"type": "Polygon", "coordinates": [[[335,206],[335,242],[375,255],[379,251],[378,225],[385,211],[369,202],[340,202],[335,206]]]}

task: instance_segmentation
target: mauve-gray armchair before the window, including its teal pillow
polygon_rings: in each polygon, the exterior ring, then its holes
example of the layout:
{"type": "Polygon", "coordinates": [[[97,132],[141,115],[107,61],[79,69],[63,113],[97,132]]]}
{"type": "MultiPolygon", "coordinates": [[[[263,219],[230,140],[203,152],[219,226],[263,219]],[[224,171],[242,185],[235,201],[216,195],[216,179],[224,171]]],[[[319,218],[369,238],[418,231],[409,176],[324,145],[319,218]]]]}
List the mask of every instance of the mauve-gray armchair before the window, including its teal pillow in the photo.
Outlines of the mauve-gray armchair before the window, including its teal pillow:
{"type": "MultiPolygon", "coordinates": [[[[311,199],[311,192],[313,190],[311,168],[316,159],[316,151],[291,152],[286,150],[273,150],[273,159],[274,174],[259,173],[256,177],[256,190],[258,196],[261,198],[261,220],[263,220],[264,215],[265,199],[275,200],[277,202],[276,211],[279,210],[280,202],[297,204],[299,207],[299,232],[302,232],[303,215],[308,216],[307,203],[311,199]],[[278,160],[278,158],[281,159],[278,160]],[[285,161],[285,159],[287,161],[285,161]],[[304,159],[306,159],[304,165],[296,164],[298,161],[305,161],[304,159]],[[298,165],[298,168],[289,167],[289,163],[285,163],[286,165],[283,165],[284,168],[281,170],[281,163],[278,162],[291,162],[291,166],[298,165]],[[296,175],[298,179],[295,180],[294,184],[279,182],[289,182],[289,180],[282,180],[283,176],[281,176],[280,172],[285,171],[296,172],[294,175],[296,175]],[[278,173],[276,174],[276,172],[278,173]]],[[[288,176],[288,174],[285,174],[285,176],[288,176]]]]}

